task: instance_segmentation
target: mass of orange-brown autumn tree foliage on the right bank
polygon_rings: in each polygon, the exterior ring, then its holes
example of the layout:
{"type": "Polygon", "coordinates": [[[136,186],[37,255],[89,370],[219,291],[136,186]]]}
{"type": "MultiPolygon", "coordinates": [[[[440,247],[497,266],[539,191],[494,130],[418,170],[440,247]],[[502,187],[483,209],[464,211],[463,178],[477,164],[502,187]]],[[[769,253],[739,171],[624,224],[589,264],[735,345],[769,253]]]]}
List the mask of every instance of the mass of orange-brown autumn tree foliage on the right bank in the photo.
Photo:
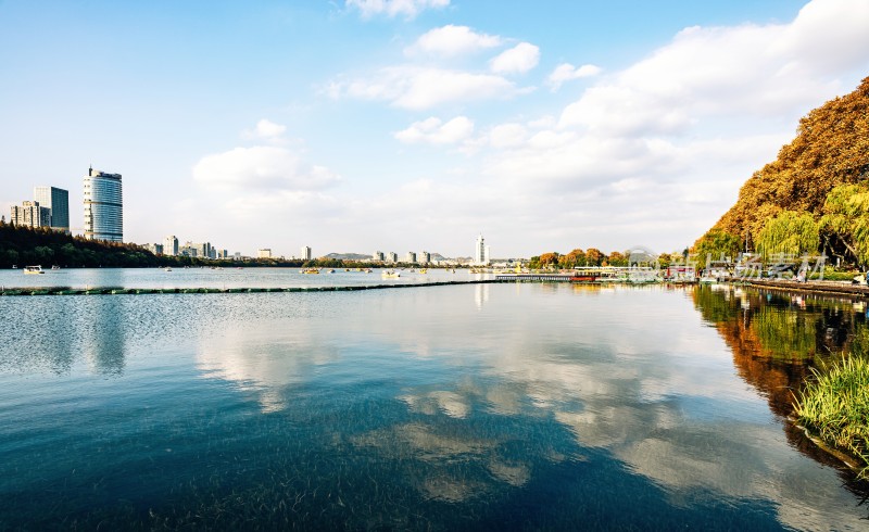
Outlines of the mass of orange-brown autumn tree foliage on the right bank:
{"type": "MultiPolygon", "coordinates": [[[[706,233],[754,242],[782,211],[818,218],[833,187],[869,179],[869,77],[799,121],[796,138],[742,186],[736,203],[706,233]]],[[[700,241],[703,240],[703,238],[700,241]]]]}

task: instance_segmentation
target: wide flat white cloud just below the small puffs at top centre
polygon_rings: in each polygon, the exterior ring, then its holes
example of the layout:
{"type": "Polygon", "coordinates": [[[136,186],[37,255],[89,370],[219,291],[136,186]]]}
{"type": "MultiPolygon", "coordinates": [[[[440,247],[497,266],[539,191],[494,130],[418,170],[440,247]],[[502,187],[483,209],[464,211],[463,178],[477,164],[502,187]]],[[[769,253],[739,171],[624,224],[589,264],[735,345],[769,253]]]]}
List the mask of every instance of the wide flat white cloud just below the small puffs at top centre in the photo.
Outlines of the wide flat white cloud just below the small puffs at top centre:
{"type": "Polygon", "coordinates": [[[333,81],[326,92],[332,98],[381,100],[419,111],[449,102],[509,98],[519,90],[492,74],[403,65],[382,68],[368,78],[333,81]]]}

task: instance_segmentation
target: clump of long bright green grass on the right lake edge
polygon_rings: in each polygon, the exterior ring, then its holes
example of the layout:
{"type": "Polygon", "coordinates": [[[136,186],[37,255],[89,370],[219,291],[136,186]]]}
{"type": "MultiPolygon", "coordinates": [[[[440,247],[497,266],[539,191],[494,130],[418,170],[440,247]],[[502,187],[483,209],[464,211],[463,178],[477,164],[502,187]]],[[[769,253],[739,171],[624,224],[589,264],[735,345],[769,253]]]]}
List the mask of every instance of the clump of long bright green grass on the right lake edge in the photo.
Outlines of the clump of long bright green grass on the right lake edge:
{"type": "Polygon", "coordinates": [[[860,477],[869,478],[869,359],[843,357],[813,372],[816,379],[796,401],[799,422],[858,456],[860,477]]]}

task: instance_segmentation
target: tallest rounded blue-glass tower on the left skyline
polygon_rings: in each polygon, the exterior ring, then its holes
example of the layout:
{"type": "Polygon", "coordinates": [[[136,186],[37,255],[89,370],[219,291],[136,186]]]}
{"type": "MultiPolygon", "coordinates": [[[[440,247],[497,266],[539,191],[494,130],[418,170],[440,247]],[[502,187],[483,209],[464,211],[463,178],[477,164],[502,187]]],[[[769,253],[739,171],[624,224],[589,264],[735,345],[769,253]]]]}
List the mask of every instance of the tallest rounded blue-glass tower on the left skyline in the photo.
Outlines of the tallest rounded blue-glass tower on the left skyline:
{"type": "Polygon", "coordinates": [[[121,174],[88,168],[85,176],[85,238],[124,241],[124,197],[121,174]]]}

